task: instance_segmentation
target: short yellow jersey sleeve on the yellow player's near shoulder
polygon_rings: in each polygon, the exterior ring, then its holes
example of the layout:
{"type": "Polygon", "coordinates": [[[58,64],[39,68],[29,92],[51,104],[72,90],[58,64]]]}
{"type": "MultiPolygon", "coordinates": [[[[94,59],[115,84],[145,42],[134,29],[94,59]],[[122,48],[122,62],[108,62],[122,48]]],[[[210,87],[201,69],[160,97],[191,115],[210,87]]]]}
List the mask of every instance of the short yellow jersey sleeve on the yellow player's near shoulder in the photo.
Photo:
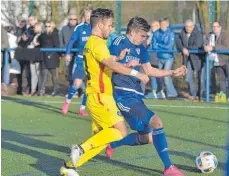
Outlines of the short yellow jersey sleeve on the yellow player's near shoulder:
{"type": "Polygon", "coordinates": [[[93,54],[95,59],[99,62],[110,57],[110,51],[105,43],[97,45],[93,50],[93,54]]]}

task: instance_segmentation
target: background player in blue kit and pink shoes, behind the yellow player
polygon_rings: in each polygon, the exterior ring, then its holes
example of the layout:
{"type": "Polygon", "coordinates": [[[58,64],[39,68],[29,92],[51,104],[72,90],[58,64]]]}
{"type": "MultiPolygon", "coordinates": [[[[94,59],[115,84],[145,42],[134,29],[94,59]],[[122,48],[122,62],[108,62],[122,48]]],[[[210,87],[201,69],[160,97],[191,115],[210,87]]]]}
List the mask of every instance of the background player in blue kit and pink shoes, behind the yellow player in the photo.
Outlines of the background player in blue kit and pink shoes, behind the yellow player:
{"type": "MultiPolygon", "coordinates": [[[[90,25],[90,17],[91,17],[91,8],[84,9],[84,20],[85,22],[80,23],[74,29],[74,32],[69,40],[69,43],[66,48],[66,61],[71,61],[71,49],[73,48],[75,42],[77,42],[77,48],[79,51],[76,53],[74,58],[74,65],[72,69],[72,80],[73,83],[70,85],[68,90],[68,96],[62,105],[62,113],[67,114],[69,105],[71,103],[73,95],[77,92],[80,88],[81,84],[83,83],[83,79],[85,77],[85,71],[83,66],[83,49],[84,45],[86,44],[89,36],[91,35],[91,25],[90,25]]],[[[83,95],[82,104],[80,106],[79,115],[88,116],[86,108],[86,94],[83,95]]]]}

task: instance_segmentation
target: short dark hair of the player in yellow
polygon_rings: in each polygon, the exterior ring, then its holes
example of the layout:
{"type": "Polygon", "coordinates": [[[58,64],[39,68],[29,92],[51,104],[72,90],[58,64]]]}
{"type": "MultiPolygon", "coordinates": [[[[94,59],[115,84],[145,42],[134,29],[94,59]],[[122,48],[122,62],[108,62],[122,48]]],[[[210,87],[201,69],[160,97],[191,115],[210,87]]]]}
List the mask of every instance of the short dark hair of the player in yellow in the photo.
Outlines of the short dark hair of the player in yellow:
{"type": "Polygon", "coordinates": [[[114,18],[114,13],[112,10],[98,8],[92,11],[90,23],[93,28],[98,21],[110,18],[114,18]]]}

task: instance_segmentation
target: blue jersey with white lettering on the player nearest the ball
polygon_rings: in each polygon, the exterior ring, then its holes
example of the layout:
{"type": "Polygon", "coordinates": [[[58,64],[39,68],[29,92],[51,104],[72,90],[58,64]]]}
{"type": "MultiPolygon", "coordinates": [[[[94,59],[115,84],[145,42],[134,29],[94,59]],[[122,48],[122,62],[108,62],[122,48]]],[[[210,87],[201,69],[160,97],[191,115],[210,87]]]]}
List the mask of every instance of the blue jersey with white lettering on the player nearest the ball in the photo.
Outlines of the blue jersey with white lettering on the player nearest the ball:
{"type": "MultiPolygon", "coordinates": [[[[119,61],[120,63],[126,64],[131,60],[137,60],[140,64],[150,62],[150,56],[147,49],[143,45],[134,45],[126,35],[121,35],[116,38],[109,49],[111,55],[119,56],[120,52],[125,48],[130,49],[130,52],[119,61]]],[[[140,66],[135,66],[133,69],[139,71],[140,66]]],[[[140,97],[144,96],[141,82],[136,77],[113,73],[112,82],[116,95],[118,93],[119,95],[127,96],[133,95],[134,93],[140,95],[140,97]]]]}

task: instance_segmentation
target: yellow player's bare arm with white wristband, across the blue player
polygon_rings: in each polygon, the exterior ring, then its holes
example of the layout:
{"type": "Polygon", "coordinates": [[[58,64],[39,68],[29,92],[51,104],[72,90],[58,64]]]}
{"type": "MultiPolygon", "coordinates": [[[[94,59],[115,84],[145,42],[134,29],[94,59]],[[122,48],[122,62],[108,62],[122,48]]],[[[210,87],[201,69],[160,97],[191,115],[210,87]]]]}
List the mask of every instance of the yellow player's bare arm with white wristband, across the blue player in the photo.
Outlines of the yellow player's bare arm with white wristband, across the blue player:
{"type": "Polygon", "coordinates": [[[117,57],[111,56],[109,59],[103,59],[102,63],[109,67],[114,72],[123,74],[123,75],[129,75],[129,76],[135,76],[139,80],[141,80],[144,84],[146,84],[149,81],[149,77],[144,74],[140,73],[134,69],[128,68],[124,66],[123,64],[116,62],[117,57]]]}

